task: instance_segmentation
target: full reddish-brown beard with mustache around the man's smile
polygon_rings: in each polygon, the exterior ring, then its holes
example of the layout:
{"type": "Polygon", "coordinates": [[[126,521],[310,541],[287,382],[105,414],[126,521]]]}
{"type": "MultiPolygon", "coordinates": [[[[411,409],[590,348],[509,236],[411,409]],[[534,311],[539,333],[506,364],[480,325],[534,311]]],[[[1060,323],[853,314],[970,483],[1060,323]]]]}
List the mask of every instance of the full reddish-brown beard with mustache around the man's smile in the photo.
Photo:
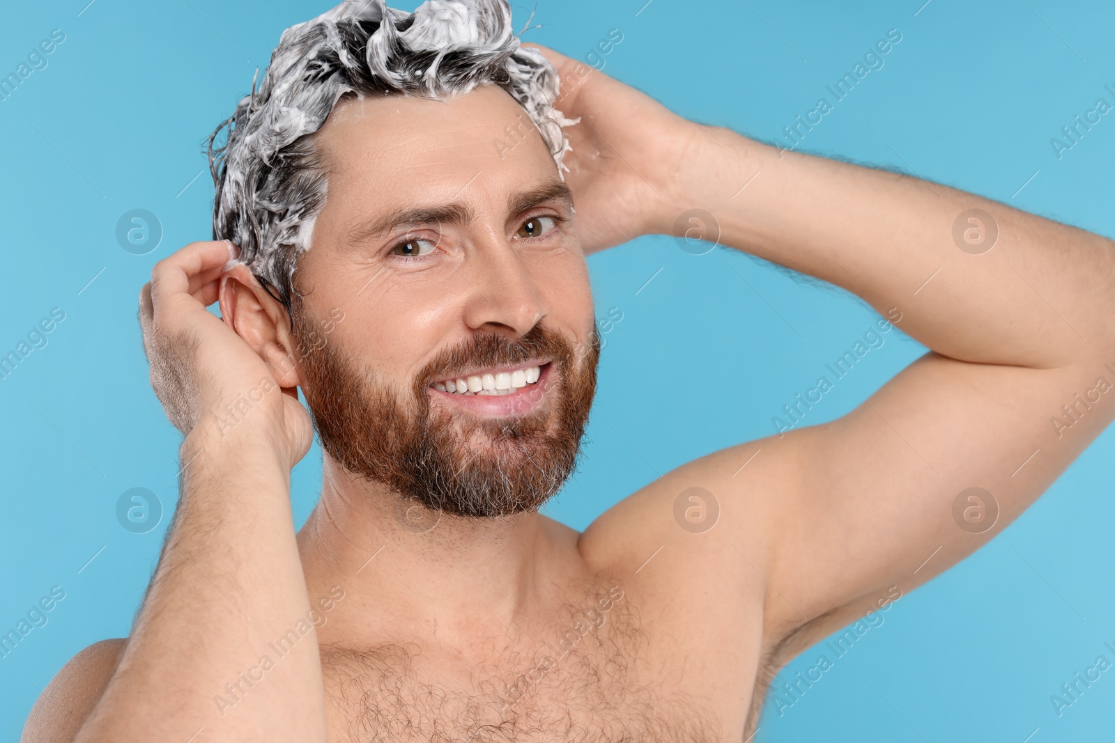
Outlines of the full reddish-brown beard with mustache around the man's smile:
{"type": "Polygon", "coordinates": [[[491,518],[537,509],[573,472],[597,389],[595,326],[579,353],[541,323],[516,341],[475,335],[439,353],[403,391],[371,369],[361,372],[334,339],[321,342],[297,296],[291,317],[321,448],[353,475],[438,514],[491,518]],[[549,399],[530,412],[496,419],[438,404],[432,414],[433,382],[537,358],[551,359],[549,375],[516,394],[549,399]]]}

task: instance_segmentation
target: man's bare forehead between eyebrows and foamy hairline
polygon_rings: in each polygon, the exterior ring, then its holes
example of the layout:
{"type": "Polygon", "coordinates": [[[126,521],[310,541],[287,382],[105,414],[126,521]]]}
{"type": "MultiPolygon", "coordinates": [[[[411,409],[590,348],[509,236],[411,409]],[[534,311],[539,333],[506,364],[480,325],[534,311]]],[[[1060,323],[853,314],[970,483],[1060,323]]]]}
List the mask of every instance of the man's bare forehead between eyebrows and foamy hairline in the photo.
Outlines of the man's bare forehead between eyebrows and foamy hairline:
{"type": "Polygon", "coordinates": [[[526,111],[493,85],[447,100],[348,98],[316,136],[329,168],[327,208],[467,201],[466,185],[504,193],[552,180],[556,169],[526,111]]]}

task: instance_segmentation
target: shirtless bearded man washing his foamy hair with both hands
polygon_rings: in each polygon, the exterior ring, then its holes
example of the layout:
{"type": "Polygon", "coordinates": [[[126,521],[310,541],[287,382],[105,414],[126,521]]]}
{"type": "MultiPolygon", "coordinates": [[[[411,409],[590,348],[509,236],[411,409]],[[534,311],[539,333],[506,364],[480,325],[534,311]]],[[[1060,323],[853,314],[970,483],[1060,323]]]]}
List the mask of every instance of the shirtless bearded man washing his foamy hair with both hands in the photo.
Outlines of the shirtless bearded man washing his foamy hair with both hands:
{"type": "Polygon", "coordinates": [[[686,121],[508,20],[361,2],[284,35],[215,170],[236,247],[140,297],[185,433],[158,568],[26,741],[745,741],[789,658],[977,549],[1115,416],[1109,241],[686,121]],[[594,391],[584,255],[691,209],[932,351],[579,534],[537,508],[594,391]]]}

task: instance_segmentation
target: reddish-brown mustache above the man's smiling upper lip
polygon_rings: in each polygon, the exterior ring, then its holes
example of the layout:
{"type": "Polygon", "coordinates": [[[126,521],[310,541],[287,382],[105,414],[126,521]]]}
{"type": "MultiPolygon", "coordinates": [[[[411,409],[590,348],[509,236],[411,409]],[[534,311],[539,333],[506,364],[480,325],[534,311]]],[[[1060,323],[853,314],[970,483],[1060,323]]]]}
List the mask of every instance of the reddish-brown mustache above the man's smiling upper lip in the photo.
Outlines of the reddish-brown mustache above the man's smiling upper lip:
{"type": "Polygon", "coordinates": [[[427,363],[415,379],[415,392],[421,397],[427,387],[463,369],[515,365],[537,358],[550,359],[559,366],[568,368],[572,356],[572,344],[542,323],[515,341],[495,333],[475,335],[442,351],[427,363]]]}

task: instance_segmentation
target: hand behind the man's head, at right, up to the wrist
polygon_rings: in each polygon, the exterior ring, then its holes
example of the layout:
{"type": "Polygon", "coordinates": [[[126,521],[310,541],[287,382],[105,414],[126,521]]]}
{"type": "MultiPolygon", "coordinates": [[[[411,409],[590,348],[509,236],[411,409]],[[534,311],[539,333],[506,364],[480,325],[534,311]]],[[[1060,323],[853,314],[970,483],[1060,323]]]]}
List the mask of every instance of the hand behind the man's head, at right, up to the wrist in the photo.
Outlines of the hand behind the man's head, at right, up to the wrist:
{"type": "Polygon", "coordinates": [[[565,180],[588,255],[644,234],[671,234],[683,208],[678,174],[695,156],[701,127],[630,86],[546,47],[524,43],[558,68],[555,107],[581,117],[565,128],[565,180]]]}

